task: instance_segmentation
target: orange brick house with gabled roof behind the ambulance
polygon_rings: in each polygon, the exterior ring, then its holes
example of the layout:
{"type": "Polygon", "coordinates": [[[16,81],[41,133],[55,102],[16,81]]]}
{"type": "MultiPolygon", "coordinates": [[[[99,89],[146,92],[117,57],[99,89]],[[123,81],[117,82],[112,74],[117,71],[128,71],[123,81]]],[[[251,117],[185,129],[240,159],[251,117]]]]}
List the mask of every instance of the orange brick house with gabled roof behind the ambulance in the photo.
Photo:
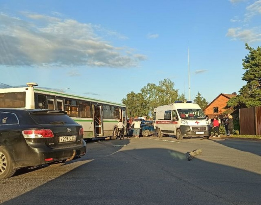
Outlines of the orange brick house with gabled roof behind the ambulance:
{"type": "Polygon", "coordinates": [[[210,119],[213,119],[215,116],[220,116],[222,119],[223,116],[222,113],[226,111],[226,106],[227,102],[229,99],[232,97],[235,97],[237,94],[232,93],[232,94],[224,94],[221,93],[219,94],[211,103],[209,103],[205,108],[204,108],[204,113],[205,115],[208,115],[210,119]]]}

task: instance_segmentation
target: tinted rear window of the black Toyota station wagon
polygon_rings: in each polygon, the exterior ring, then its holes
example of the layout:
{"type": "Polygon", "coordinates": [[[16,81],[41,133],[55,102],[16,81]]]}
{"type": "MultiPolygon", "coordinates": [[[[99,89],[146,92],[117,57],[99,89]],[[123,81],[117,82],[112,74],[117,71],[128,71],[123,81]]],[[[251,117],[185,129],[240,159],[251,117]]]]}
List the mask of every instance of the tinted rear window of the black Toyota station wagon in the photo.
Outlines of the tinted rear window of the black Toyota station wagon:
{"type": "Polygon", "coordinates": [[[30,116],[38,124],[77,124],[65,113],[59,112],[33,112],[30,116]]]}

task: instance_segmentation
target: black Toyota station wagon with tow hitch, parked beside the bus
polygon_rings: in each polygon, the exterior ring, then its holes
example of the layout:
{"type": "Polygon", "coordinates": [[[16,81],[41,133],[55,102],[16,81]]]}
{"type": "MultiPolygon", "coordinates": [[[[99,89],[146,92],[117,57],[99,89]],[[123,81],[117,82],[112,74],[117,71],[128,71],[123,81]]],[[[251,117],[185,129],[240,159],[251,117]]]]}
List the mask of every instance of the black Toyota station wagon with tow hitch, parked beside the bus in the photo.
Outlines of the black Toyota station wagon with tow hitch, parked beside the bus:
{"type": "Polygon", "coordinates": [[[85,153],[83,128],[66,112],[0,109],[0,179],[21,167],[60,166],[85,153]]]}

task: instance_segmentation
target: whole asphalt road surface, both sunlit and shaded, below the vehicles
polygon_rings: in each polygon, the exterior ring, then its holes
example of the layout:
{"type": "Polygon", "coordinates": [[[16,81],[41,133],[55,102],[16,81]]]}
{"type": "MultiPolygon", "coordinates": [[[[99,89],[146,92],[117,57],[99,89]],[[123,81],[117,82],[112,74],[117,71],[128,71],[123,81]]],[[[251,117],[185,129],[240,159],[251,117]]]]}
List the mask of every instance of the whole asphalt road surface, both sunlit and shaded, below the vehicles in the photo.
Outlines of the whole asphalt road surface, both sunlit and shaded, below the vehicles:
{"type": "Polygon", "coordinates": [[[261,140],[101,140],[0,181],[6,204],[261,204],[261,140]],[[123,146],[126,145],[126,146],[123,146]],[[202,148],[191,161],[186,153],[202,148]]]}

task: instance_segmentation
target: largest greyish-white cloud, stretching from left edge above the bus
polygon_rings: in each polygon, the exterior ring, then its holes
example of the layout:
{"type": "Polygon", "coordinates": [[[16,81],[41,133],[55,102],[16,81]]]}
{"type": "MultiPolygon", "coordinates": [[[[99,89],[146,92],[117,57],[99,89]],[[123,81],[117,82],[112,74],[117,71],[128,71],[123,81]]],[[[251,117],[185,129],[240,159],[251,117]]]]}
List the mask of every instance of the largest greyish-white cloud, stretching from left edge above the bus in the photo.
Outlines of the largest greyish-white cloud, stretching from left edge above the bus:
{"type": "Polygon", "coordinates": [[[22,14],[29,20],[0,13],[0,65],[124,68],[146,59],[134,52],[126,54],[130,48],[114,47],[104,40],[104,36],[127,39],[116,31],[73,19],[22,14]]]}

